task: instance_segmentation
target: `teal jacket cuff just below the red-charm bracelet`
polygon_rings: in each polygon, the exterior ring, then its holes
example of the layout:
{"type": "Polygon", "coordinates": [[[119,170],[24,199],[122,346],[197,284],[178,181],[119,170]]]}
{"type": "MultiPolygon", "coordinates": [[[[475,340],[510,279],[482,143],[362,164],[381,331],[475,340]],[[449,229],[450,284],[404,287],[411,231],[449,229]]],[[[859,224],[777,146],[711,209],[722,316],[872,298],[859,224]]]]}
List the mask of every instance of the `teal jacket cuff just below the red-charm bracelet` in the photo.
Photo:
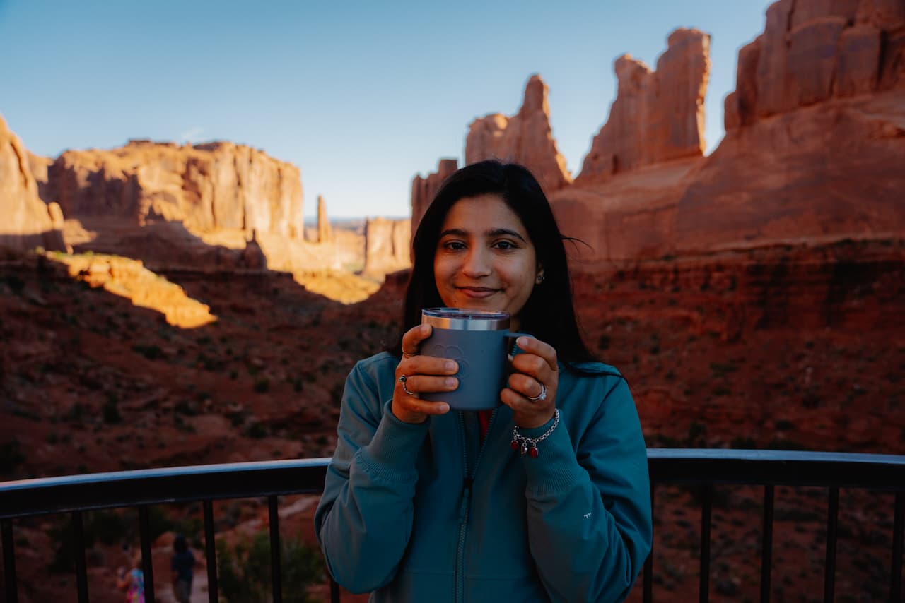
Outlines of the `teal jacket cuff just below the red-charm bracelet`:
{"type": "MultiPolygon", "coordinates": [[[[561,415],[562,410],[559,412],[561,415]]],[[[539,438],[550,429],[553,421],[554,419],[550,419],[533,429],[519,429],[519,433],[526,438],[539,438]]],[[[528,481],[525,494],[530,499],[547,499],[571,489],[585,470],[578,465],[572,438],[569,437],[568,429],[563,422],[560,416],[557,429],[554,429],[547,439],[538,442],[537,458],[529,455],[522,457],[528,481]]]]}

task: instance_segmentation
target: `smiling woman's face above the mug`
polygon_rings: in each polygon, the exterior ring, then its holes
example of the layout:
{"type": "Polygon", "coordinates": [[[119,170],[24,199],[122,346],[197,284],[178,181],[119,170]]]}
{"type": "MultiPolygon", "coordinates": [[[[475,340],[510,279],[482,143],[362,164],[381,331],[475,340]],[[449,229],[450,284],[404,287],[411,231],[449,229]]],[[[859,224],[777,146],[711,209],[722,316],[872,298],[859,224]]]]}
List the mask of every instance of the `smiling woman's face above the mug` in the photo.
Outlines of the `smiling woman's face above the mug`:
{"type": "Polygon", "coordinates": [[[538,270],[525,225],[500,195],[464,197],[452,205],[433,257],[445,306],[509,312],[510,328],[518,329],[538,270]]]}

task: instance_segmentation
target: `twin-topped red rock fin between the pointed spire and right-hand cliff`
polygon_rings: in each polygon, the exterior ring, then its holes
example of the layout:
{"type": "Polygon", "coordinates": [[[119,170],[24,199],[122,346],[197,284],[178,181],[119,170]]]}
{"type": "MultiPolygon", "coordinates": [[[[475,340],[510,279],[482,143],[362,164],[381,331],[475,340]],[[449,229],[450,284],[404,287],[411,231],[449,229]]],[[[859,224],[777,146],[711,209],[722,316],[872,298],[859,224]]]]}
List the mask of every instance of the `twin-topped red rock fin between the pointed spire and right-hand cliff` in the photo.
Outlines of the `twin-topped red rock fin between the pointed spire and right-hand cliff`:
{"type": "Polygon", "coordinates": [[[576,184],[703,155],[710,35],[677,29],[670,34],[656,71],[628,54],[616,59],[614,67],[619,80],[616,99],[576,184]]]}

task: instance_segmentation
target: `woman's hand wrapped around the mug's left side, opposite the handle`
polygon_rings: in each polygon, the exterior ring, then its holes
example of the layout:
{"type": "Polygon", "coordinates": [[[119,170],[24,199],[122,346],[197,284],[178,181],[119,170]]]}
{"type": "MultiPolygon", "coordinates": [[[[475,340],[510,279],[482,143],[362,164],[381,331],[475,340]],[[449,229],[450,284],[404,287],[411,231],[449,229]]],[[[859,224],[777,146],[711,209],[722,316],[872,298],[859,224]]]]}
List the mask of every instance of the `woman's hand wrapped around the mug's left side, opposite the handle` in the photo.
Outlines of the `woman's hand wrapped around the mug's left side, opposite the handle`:
{"type": "Polygon", "coordinates": [[[459,387],[459,380],[453,377],[459,366],[446,358],[434,358],[418,354],[421,342],[431,336],[431,325],[417,325],[402,336],[402,362],[396,367],[395,390],[392,410],[396,419],[405,423],[423,423],[428,415],[443,415],[449,412],[446,402],[421,400],[418,394],[424,391],[453,391],[459,387]],[[405,392],[399,377],[405,375],[405,392]]]}

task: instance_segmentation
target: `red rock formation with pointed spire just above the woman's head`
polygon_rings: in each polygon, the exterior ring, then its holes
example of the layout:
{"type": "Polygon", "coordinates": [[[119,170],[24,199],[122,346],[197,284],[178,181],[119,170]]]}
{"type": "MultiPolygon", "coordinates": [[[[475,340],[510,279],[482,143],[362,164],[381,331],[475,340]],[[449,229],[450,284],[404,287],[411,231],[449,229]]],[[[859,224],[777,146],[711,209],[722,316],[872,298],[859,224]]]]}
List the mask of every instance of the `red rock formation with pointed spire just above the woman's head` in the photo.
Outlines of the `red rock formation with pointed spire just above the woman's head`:
{"type": "Polygon", "coordinates": [[[517,115],[494,113],[475,119],[465,139],[465,164],[495,158],[525,165],[547,193],[570,184],[566,159],[559,155],[550,129],[547,95],[547,84],[532,75],[517,115]]]}

